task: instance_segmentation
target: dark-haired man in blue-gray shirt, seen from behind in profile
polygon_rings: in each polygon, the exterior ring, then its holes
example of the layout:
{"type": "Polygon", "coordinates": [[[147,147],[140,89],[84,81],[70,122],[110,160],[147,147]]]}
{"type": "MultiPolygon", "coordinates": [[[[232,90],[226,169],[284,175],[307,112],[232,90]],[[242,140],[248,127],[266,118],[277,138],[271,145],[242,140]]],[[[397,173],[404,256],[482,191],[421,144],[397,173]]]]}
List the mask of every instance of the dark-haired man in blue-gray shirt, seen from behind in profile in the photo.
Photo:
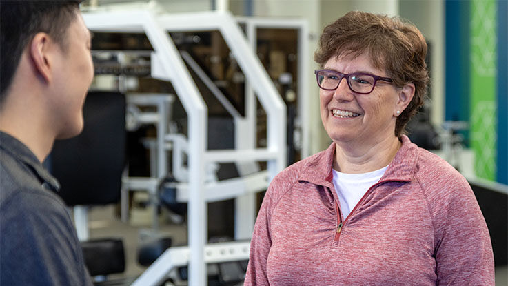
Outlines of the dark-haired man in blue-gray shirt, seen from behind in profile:
{"type": "Polygon", "coordinates": [[[0,285],[92,285],[41,165],[55,139],[83,129],[90,32],[79,1],[2,0],[0,11],[0,285]]]}

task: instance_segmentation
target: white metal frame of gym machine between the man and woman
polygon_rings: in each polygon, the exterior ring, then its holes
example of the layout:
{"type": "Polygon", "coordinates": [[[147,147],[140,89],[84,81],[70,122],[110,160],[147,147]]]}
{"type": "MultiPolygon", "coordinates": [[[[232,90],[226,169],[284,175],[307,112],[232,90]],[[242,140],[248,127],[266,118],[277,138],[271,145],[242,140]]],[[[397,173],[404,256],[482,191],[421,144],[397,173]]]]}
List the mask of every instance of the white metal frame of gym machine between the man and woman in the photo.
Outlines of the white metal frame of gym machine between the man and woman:
{"type": "MultiPolygon", "coordinates": [[[[149,286],[162,282],[175,265],[167,263],[167,261],[166,263],[159,263],[159,261],[163,261],[167,256],[173,260],[174,254],[172,253],[175,252],[182,255],[183,252],[186,252],[182,256],[181,263],[189,265],[189,285],[206,285],[205,263],[210,262],[207,252],[212,251],[216,246],[205,246],[205,222],[207,221],[205,202],[235,198],[258,191],[259,185],[262,184],[266,187],[267,182],[285,167],[286,110],[281,96],[276,92],[274,84],[267,76],[261,62],[250,48],[231,14],[226,12],[161,15],[150,10],[94,10],[84,12],[83,19],[92,31],[145,32],[154,48],[154,52],[151,53],[151,74],[155,78],[172,83],[188,118],[187,137],[181,134],[167,134],[166,130],[158,133],[157,136],[161,136],[164,142],[172,141],[173,148],[175,143],[181,143],[181,150],[185,150],[187,155],[187,163],[183,164],[185,167],[179,169],[187,171],[187,178],[185,181],[179,180],[181,183],[176,187],[176,190],[179,192],[178,200],[188,202],[189,247],[167,249],[133,285],[149,286]],[[267,114],[267,147],[256,148],[254,145],[252,139],[255,136],[250,133],[254,131],[254,128],[249,125],[251,124],[251,121],[248,120],[250,115],[247,115],[245,118],[235,118],[235,127],[238,131],[235,132],[236,139],[238,139],[235,141],[235,149],[207,150],[207,136],[204,135],[207,134],[207,108],[185,68],[180,53],[167,33],[182,30],[219,30],[221,32],[267,114]],[[206,180],[206,168],[213,167],[214,164],[237,162],[238,165],[249,165],[258,161],[267,162],[265,174],[254,172],[249,176],[244,176],[245,172],[241,170],[242,176],[240,178],[224,181],[206,180]],[[145,275],[146,273],[149,275],[145,275]]],[[[246,101],[254,103],[254,94],[246,101]]],[[[252,111],[247,111],[246,114],[248,112],[252,111]]],[[[165,143],[159,145],[158,152],[165,153],[165,143]]],[[[166,156],[158,156],[158,160],[157,178],[148,178],[147,181],[142,181],[141,178],[129,178],[124,181],[125,187],[133,188],[136,183],[138,187],[142,185],[156,187],[158,179],[167,175],[167,165],[161,163],[166,160],[166,156]]],[[[178,178],[176,173],[173,175],[178,178]]],[[[252,229],[255,212],[252,196],[243,203],[246,205],[243,210],[249,217],[242,218],[242,221],[247,221],[244,223],[247,225],[247,229],[252,229]]],[[[246,252],[243,249],[238,252],[238,256],[231,258],[245,260],[248,257],[248,247],[246,249],[246,252]]]]}

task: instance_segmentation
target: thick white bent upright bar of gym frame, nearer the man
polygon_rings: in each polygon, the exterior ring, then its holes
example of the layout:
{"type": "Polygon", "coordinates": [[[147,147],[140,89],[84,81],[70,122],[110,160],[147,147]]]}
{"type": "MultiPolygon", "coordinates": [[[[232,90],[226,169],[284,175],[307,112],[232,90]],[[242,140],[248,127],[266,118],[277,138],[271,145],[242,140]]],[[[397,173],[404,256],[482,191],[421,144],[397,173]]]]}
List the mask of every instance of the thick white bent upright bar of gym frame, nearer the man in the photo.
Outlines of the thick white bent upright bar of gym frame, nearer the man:
{"type": "MultiPolygon", "coordinates": [[[[206,269],[203,262],[205,245],[206,205],[203,200],[203,178],[205,177],[202,161],[206,146],[207,108],[196,85],[190,78],[174,43],[169,35],[161,29],[152,13],[147,10],[103,11],[83,14],[83,19],[90,30],[145,32],[161,62],[164,71],[162,79],[170,80],[181,99],[189,117],[189,167],[190,192],[194,198],[189,202],[189,244],[191,253],[189,271],[191,286],[206,285],[206,269]]],[[[187,21],[185,21],[187,22],[187,21]]]]}

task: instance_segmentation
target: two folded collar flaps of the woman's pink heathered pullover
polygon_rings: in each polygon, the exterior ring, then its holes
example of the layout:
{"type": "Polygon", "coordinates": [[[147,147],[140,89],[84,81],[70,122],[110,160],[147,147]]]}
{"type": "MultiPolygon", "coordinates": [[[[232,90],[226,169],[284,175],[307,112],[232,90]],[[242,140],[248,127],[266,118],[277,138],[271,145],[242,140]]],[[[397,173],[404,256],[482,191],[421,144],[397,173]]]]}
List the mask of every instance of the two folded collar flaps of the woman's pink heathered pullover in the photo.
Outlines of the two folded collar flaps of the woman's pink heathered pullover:
{"type": "MultiPolygon", "coordinates": [[[[418,146],[409,141],[407,136],[401,136],[402,146],[389,164],[380,181],[411,181],[417,160],[418,146]]],[[[335,143],[329,145],[327,150],[319,152],[309,159],[300,180],[316,185],[330,187],[333,181],[332,165],[335,156],[335,143]]]]}

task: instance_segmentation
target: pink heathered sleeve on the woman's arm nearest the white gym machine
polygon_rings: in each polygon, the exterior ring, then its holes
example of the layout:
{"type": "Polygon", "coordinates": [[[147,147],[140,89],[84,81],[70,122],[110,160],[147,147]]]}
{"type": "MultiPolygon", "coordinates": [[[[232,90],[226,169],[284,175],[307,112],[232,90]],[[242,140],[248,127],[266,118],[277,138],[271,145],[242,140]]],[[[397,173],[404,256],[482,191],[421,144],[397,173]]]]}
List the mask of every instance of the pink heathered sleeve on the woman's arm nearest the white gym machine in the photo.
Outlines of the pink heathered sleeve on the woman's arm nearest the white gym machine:
{"type": "MultiPolygon", "coordinates": [[[[276,179],[274,179],[275,181],[276,179]]],[[[270,232],[270,214],[272,212],[274,185],[270,184],[263,198],[261,209],[259,210],[252,241],[250,242],[249,265],[245,275],[245,286],[270,285],[267,277],[267,258],[272,247],[272,236],[270,232]]]]}

